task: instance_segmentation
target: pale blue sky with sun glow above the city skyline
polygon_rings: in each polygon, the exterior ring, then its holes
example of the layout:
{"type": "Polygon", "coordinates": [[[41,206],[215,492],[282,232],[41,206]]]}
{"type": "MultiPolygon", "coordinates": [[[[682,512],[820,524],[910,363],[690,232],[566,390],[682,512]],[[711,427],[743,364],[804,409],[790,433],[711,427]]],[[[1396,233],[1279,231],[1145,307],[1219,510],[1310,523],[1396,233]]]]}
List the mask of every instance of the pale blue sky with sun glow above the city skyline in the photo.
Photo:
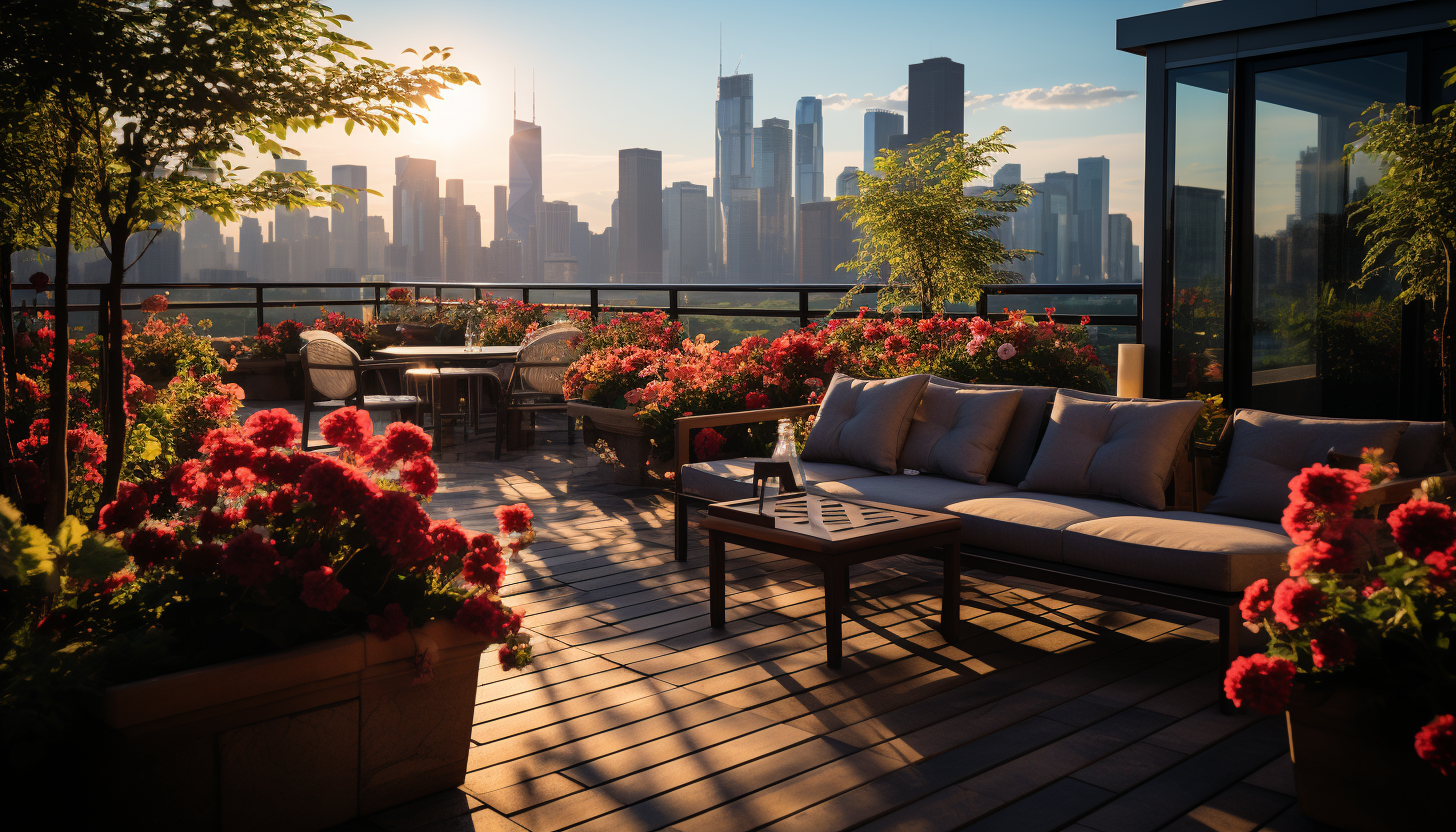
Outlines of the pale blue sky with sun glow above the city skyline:
{"type": "Polygon", "coordinates": [[[907,66],[946,55],[965,64],[977,98],[967,133],[1012,128],[1029,181],[1075,170],[1079,156],[1112,162],[1112,211],[1134,216],[1142,238],[1144,61],[1115,50],[1117,19],[1181,0],[480,3],[335,0],[347,32],[380,57],[406,47],[454,47],[451,63],[479,87],[432,103],[431,122],[389,137],[341,128],[296,136],[328,181],[328,166],[367,165],[370,213],[389,217],[395,156],[435,159],[440,176],[466,181],[466,200],[489,235],[491,187],[505,184],[511,74],[518,112],[543,128],[547,200],[581,207],[601,230],[616,195],[616,153],[664,154],[664,184],[712,178],[718,28],[725,71],[754,74],[754,119],[794,118],[799,96],[826,98],[826,179],[859,165],[865,106],[897,106],[907,66]],[[1060,89],[1059,89],[1060,87],[1060,89]],[[984,99],[980,99],[984,96],[984,99]]]}

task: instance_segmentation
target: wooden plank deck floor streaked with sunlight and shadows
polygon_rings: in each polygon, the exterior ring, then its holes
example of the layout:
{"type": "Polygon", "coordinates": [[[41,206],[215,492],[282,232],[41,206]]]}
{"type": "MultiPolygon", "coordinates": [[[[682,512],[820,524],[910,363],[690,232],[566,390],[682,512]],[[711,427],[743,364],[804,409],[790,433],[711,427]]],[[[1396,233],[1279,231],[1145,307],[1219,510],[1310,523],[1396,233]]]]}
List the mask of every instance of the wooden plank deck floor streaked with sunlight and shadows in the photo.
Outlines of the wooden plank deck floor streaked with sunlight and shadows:
{"type": "Polygon", "coordinates": [[[504,594],[537,659],[485,657],[460,791],[348,829],[1322,829],[1283,720],[1219,711],[1211,621],[967,573],[948,644],[939,565],[895,558],[853,573],[830,670],[811,567],[729,551],[711,629],[703,542],[674,562],[665,495],[607,484],[563,439],[443,455],[431,514],[536,511],[504,594]]]}

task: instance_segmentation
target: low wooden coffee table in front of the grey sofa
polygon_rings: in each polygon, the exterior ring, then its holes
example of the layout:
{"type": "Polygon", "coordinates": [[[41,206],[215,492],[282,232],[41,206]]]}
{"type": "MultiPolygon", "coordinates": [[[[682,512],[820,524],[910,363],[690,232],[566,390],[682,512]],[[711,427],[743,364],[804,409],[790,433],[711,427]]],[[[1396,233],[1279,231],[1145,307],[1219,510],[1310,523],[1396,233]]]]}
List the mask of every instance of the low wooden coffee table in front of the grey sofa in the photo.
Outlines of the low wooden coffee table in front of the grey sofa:
{"type": "Polygon", "coordinates": [[[711,619],[724,627],[727,543],[808,561],[824,570],[824,625],[828,666],[843,656],[842,616],[849,567],[894,555],[926,554],[943,562],[941,634],[955,637],[961,618],[961,520],[863,500],[791,494],[713,503],[708,529],[711,619]]]}

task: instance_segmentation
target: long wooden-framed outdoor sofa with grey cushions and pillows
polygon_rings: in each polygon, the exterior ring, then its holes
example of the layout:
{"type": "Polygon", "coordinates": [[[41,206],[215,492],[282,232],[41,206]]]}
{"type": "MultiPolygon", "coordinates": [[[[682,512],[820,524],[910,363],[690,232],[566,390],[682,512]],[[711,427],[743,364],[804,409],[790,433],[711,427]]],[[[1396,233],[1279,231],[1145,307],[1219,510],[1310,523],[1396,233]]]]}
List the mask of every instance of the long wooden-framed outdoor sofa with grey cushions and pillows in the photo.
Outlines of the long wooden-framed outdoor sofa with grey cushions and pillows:
{"type": "Polygon", "coordinates": [[[955,514],[973,568],[1211,616],[1227,663],[1239,651],[1243,589],[1286,577],[1294,543],[1280,517],[1302,468],[1382,447],[1401,478],[1363,504],[1404,501],[1420,479],[1450,469],[1441,423],[1252,409],[1229,418],[1217,449],[1195,455],[1201,408],[935,376],[836,376],[820,405],[683,417],[677,560],[692,509],[753,495],[753,459],[683,459],[692,431],[815,414],[802,456],[818,492],[955,514]]]}

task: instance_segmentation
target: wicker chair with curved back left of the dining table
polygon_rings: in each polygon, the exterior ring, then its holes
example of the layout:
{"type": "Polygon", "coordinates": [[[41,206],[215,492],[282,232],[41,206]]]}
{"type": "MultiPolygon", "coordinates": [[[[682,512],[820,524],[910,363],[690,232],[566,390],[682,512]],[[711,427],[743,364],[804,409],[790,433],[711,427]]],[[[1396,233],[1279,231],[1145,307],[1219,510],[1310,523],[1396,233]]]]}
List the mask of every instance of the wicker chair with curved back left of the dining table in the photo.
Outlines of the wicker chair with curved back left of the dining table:
{"type": "Polygon", "coordinates": [[[319,329],[303,332],[300,340],[303,341],[298,361],[303,366],[304,450],[309,450],[314,408],[354,405],[361,411],[395,411],[400,418],[419,423],[418,396],[364,395],[364,373],[379,373],[380,389],[387,389],[383,370],[400,370],[408,367],[406,363],[365,361],[342,338],[319,329]]]}

